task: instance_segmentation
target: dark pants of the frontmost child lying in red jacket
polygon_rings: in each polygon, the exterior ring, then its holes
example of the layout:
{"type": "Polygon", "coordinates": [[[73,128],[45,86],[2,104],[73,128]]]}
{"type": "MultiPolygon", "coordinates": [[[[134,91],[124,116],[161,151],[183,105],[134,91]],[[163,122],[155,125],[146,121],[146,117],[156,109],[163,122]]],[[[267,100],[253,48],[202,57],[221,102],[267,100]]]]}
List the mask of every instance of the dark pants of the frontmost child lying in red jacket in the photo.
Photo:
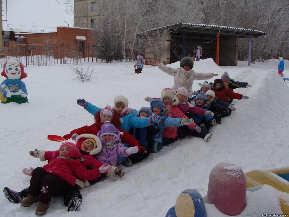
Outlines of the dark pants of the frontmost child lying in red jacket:
{"type": "Polygon", "coordinates": [[[63,194],[71,185],[46,172],[42,167],[37,167],[32,173],[29,194],[39,196],[39,202],[49,203],[52,196],[63,194]]]}

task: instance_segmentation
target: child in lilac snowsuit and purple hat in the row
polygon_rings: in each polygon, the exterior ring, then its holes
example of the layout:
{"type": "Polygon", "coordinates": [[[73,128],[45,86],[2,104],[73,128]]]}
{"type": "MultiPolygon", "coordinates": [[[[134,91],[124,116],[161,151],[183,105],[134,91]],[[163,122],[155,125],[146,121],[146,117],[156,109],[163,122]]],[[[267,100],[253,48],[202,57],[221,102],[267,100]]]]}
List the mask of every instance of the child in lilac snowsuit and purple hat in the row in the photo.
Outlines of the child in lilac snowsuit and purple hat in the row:
{"type": "Polygon", "coordinates": [[[100,162],[107,165],[116,166],[118,156],[127,157],[131,154],[138,152],[138,147],[125,147],[121,143],[120,132],[115,126],[110,122],[105,122],[99,132],[97,137],[99,137],[102,145],[101,151],[94,155],[100,162]]]}

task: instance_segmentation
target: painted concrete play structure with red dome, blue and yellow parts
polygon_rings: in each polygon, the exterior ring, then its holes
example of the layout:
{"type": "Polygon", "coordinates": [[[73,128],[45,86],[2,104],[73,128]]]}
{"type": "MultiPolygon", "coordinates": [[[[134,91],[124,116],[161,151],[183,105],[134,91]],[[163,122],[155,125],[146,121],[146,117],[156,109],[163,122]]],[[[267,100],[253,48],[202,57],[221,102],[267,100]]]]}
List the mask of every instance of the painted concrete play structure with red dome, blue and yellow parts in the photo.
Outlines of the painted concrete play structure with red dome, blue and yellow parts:
{"type": "MultiPolygon", "coordinates": [[[[269,194],[273,192],[272,197],[276,199],[274,204],[270,204],[273,200],[265,198],[259,203],[275,206],[277,200],[282,213],[276,214],[289,214],[289,167],[252,170],[244,174],[236,164],[218,163],[210,172],[207,195],[202,197],[195,189],[182,191],[166,217],[212,216],[207,214],[206,204],[213,204],[219,212],[228,216],[242,215],[242,212],[246,212],[247,194],[250,192],[251,198],[254,194],[256,196],[264,185],[271,186],[269,194]]],[[[252,212],[252,207],[248,208],[249,212],[252,212]]]]}

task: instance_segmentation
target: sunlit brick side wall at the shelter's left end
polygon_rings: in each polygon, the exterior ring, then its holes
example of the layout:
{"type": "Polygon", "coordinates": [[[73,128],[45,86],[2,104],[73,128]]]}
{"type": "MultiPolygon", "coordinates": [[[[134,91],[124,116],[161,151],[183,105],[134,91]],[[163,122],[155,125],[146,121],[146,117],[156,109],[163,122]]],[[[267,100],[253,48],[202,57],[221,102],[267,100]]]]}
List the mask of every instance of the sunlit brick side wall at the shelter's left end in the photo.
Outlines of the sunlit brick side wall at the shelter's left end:
{"type": "Polygon", "coordinates": [[[157,43],[153,40],[145,45],[145,64],[153,65],[153,61],[158,59],[161,53],[161,62],[164,64],[170,63],[171,50],[171,33],[168,32],[162,36],[161,50],[159,52],[157,43]]]}

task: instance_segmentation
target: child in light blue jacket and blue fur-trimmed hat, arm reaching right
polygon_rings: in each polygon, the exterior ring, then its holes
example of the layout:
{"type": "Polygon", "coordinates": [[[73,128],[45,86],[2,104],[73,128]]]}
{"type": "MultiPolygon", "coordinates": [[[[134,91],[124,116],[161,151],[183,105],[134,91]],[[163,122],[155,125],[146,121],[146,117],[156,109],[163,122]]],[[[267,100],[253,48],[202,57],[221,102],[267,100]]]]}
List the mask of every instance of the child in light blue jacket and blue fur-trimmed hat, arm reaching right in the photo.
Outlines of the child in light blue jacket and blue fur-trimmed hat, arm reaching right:
{"type": "Polygon", "coordinates": [[[188,117],[186,118],[167,117],[165,115],[164,103],[162,100],[157,100],[157,99],[151,100],[150,105],[151,105],[152,115],[161,116],[161,121],[153,124],[153,126],[159,130],[159,132],[155,134],[153,137],[153,145],[151,148],[151,153],[155,153],[161,150],[162,147],[164,146],[162,142],[162,136],[163,136],[165,127],[189,125],[189,124],[194,123],[194,120],[189,119],[188,117]]]}

